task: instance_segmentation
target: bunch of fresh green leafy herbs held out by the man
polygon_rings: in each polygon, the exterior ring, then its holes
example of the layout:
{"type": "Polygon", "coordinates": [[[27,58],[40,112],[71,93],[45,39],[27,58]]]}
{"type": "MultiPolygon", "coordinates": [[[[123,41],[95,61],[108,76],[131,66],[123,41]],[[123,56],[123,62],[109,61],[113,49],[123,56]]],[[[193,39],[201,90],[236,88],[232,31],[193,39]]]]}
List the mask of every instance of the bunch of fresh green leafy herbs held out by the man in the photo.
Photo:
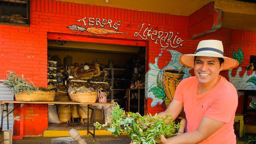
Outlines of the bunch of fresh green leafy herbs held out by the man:
{"type": "MultiPolygon", "coordinates": [[[[166,138],[176,135],[180,124],[175,124],[172,122],[170,115],[165,117],[155,116],[140,116],[139,113],[125,112],[120,109],[119,105],[112,108],[111,123],[107,130],[115,134],[115,136],[126,134],[132,139],[132,144],[155,144],[159,142],[161,135],[166,138]],[[166,121],[170,121],[166,123],[166,121]]],[[[100,124],[98,122],[94,123],[97,129],[101,127],[108,126],[107,123],[100,124]]]]}

